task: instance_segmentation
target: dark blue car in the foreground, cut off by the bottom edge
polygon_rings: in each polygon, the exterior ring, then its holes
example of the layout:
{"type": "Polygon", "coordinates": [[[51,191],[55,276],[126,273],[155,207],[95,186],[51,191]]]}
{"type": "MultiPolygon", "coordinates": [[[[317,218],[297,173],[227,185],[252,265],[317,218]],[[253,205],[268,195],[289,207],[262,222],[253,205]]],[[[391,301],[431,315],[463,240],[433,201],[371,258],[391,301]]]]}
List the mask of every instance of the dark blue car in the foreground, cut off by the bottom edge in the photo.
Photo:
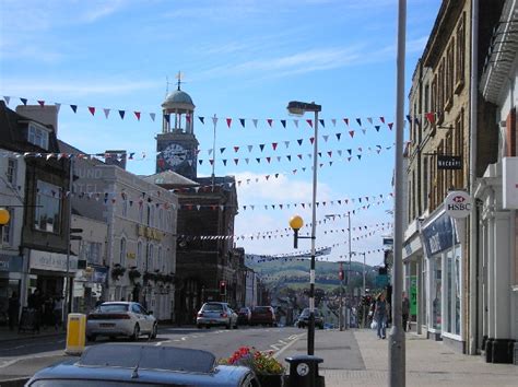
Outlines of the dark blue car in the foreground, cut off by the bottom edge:
{"type": "Polygon", "coordinates": [[[175,347],[101,344],[78,360],[38,371],[28,387],[120,386],[259,387],[248,367],[216,365],[212,353],[175,347]]]}

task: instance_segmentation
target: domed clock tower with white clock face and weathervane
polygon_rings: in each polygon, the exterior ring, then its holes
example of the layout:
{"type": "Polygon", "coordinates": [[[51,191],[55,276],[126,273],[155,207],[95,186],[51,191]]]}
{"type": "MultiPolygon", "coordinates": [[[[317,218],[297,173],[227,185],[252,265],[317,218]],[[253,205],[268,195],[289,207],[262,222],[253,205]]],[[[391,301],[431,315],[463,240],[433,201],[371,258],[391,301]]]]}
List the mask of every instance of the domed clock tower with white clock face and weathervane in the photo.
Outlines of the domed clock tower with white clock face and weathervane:
{"type": "Polygon", "coordinates": [[[162,104],[162,133],[156,136],[156,173],[173,171],[197,177],[198,140],[195,137],[195,104],[178,89],[162,104]]]}

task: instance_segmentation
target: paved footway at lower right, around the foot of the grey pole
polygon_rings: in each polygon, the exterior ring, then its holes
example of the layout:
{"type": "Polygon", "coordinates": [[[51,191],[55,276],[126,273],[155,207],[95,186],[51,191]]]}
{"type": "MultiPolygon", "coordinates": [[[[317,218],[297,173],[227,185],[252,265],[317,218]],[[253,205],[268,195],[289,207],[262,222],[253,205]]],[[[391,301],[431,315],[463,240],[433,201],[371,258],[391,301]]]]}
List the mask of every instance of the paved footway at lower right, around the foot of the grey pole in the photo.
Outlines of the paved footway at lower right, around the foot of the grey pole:
{"type": "MultiPolygon", "coordinates": [[[[307,353],[298,340],[278,359],[307,353]]],[[[518,386],[518,366],[485,363],[482,356],[455,352],[440,341],[409,332],[405,336],[407,386],[518,386]]],[[[326,387],[388,386],[388,338],[369,329],[316,331],[315,355],[323,359],[319,374],[326,387]]]]}

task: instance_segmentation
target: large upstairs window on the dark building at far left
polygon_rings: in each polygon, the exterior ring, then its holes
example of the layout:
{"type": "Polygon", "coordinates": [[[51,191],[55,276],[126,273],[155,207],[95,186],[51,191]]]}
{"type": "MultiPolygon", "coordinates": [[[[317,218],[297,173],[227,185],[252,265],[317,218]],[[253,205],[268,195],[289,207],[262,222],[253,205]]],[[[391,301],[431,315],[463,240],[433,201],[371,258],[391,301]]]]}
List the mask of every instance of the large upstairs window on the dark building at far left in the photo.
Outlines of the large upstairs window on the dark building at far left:
{"type": "Polygon", "coordinates": [[[36,185],[34,227],[48,233],[58,233],[61,212],[61,188],[38,180],[36,185]]]}

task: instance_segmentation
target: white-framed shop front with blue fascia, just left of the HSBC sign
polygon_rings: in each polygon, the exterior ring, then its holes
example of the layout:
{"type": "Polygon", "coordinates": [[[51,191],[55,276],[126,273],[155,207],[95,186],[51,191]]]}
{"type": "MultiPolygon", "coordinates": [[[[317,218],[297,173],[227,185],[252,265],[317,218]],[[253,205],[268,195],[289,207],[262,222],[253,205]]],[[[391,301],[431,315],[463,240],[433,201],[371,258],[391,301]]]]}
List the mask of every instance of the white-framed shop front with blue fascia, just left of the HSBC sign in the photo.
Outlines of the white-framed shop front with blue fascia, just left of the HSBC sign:
{"type": "Polygon", "coordinates": [[[423,279],[427,301],[427,337],[444,340],[459,352],[464,352],[461,314],[463,262],[458,228],[456,221],[444,210],[423,223],[423,279]]]}

